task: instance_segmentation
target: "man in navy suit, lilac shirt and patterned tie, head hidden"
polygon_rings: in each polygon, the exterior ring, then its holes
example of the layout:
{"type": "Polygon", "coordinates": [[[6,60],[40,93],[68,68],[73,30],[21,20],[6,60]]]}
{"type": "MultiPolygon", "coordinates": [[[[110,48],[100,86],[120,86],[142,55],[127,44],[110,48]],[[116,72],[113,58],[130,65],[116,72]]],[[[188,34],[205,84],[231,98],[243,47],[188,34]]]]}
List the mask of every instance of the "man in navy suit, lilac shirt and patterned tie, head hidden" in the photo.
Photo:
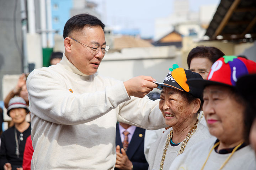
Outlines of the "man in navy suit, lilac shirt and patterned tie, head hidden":
{"type": "Polygon", "coordinates": [[[116,126],[117,158],[115,170],[147,170],[144,155],[145,129],[119,123],[116,126]],[[128,135],[124,135],[125,133],[128,135]],[[128,143],[126,143],[128,142],[128,143]],[[124,143],[124,144],[123,144],[124,143]],[[120,148],[121,147],[121,148],[120,148]]]}

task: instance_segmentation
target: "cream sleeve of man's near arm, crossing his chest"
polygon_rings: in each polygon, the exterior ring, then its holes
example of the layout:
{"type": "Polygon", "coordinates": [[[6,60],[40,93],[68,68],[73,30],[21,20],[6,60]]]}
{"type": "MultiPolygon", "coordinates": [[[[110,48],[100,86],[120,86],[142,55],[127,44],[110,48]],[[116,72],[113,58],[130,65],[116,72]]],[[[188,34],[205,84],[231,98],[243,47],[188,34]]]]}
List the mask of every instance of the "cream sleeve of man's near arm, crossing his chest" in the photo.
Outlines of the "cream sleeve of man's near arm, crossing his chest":
{"type": "MultiPolygon", "coordinates": [[[[30,111],[57,124],[74,125],[95,120],[130,100],[122,81],[94,93],[71,93],[58,75],[34,70],[27,79],[30,111]]],[[[102,82],[100,82],[102,83],[102,82]]]]}

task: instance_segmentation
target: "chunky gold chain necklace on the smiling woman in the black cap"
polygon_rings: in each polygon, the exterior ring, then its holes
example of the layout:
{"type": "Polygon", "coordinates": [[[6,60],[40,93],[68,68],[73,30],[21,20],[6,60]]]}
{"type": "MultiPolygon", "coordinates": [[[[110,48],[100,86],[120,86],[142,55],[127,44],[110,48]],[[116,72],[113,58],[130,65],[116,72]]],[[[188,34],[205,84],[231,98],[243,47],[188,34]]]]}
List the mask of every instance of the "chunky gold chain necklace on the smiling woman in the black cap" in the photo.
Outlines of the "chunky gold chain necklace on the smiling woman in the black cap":
{"type": "MultiPolygon", "coordinates": [[[[183,142],[181,143],[181,147],[180,147],[180,151],[178,152],[178,155],[183,153],[188,140],[190,139],[191,135],[194,134],[194,131],[196,131],[196,129],[197,129],[197,123],[198,123],[198,119],[197,119],[196,123],[194,124],[194,126],[191,128],[191,130],[188,132],[188,134],[185,137],[185,139],[183,140],[183,142]]],[[[170,143],[172,136],[173,136],[173,130],[170,131],[170,134],[168,134],[167,139],[166,139],[166,143],[165,143],[165,147],[164,147],[164,151],[163,151],[163,155],[162,155],[162,159],[161,159],[161,163],[160,163],[160,170],[162,170],[162,168],[163,168],[167,147],[170,143]]]]}

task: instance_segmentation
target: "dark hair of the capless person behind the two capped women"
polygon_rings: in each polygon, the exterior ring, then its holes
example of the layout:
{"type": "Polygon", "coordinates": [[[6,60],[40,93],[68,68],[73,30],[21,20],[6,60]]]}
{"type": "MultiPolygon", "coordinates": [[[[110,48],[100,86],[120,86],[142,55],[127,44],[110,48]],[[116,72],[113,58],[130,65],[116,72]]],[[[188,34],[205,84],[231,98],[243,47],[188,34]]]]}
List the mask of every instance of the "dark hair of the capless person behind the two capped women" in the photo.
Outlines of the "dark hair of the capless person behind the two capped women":
{"type": "Polygon", "coordinates": [[[191,60],[195,57],[208,58],[213,64],[215,61],[217,61],[220,57],[223,56],[225,56],[225,54],[216,47],[197,46],[188,53],[188,69],[190,69],[191,60]]]}

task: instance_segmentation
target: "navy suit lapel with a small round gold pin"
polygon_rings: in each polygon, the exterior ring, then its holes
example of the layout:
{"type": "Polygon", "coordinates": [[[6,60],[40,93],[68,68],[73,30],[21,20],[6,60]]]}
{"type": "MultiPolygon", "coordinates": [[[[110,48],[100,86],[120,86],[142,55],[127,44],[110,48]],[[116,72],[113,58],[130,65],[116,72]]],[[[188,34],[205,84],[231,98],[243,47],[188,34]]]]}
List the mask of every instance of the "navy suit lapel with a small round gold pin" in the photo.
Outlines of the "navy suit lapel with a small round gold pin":
{"type": "MultiPolygon", "coordinates": [[[[135,153],[135,151],[138,149],[138,147],[140,146],[140,143],[143,141],[145,135],[145,130],[142,128],[138,128],[136,127],[133,137],[129,143],[128,149],[127,149],[127,156],[129,159],[131,159],[135,153]],[[140,137],[142,134],[142,137],[140,137]],[[139,136],[140,135],[140,136],[139,136]]],[[[120,135],[119,135],[120,136],[120,135]]]]}

